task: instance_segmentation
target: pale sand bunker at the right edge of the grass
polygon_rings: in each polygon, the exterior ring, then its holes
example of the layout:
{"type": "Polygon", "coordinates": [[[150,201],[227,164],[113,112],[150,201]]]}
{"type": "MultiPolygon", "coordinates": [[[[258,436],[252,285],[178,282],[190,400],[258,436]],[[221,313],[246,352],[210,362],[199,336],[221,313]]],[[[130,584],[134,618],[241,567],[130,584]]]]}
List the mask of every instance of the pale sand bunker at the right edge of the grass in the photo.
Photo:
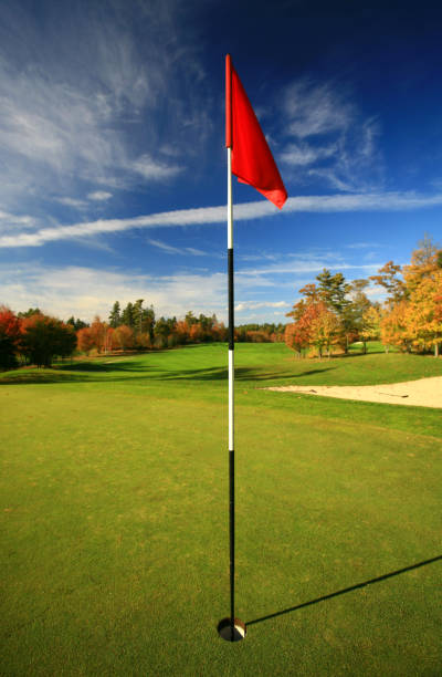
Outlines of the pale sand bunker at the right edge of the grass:
{"type": "Polygon", "coordinates": [[[362,399],[388,404],[409,405],[413,407],[442,408],[442,376],[389,383],[377,386],[281,386],[265,388],[284,393],[340,397],[343,399],[362,399]]]}

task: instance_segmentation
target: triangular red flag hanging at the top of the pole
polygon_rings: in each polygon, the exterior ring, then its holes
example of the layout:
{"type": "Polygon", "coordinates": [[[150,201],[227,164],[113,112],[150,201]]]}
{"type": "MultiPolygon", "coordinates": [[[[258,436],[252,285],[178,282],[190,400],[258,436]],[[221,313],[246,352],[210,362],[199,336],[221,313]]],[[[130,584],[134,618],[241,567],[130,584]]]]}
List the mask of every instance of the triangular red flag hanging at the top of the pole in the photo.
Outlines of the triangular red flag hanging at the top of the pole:
{"type": "Polygon", "coordinates": [[[230,54],[225,58],[225,146],[232,148],[232,174],[238,180],[281,209],[287,191],[230,54]]]}

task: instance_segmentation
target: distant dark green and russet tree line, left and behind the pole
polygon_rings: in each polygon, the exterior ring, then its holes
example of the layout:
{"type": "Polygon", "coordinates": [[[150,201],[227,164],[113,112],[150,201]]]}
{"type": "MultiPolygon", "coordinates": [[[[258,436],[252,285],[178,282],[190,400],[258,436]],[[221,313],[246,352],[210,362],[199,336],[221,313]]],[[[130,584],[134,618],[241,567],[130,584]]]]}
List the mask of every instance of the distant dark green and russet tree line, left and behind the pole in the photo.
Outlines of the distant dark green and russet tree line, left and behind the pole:
{"type": "MultiPolygon", "coordinates": [[[[284,325],[248,324],[235,330],[236,341],[283,341],[284,325]]],[[[198,316],[189,311],[182,320],[156,317],[154,306],[144,306],[144,299],[125,308],[116,301],[107,321],[96,316],[92,323],[73,315],[62,322],[39,308],[14,313],[0,306],[0,368],[35,364],[49,367],[56,357],[69,357],[75,351],[91,352],[158,350],[227,341],[228,330],[215,314],[198,316]]]]}

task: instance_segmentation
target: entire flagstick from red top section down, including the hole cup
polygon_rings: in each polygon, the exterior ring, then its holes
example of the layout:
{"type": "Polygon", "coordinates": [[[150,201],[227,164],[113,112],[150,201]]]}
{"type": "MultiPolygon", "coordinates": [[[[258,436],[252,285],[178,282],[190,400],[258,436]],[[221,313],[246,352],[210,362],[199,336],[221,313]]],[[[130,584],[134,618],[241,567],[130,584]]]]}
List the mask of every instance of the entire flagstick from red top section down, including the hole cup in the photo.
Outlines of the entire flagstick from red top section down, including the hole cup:
{"type": "Polygon", "coordinates": [[[232,124],[231,59],[225,58],[225,145],[228,150],[228,279],[229,279],[229,541],[230,541],[230,617],[218,625],[223,639],[238,642],[245,636],[245,624],[234,616],[235,577],[235,504],[234,504],[234,306],[233,306],[233,200],[232,200],[232,124]]]}

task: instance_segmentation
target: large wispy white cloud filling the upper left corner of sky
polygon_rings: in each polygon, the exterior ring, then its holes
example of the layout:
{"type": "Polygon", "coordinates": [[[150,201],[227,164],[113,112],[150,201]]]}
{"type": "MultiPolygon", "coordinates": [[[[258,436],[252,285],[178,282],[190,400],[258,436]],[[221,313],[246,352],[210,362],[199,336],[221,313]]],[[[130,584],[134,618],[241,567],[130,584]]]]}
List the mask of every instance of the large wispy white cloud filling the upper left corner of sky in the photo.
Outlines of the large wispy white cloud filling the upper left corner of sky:
{"type": "Polygon", "coordinates": [[[50,209],[60,198],[83,208],[108,199],[108,186],[173,180],[185,148],[194,153],[211,128],[200,105],[203,72],[177,7],[104,0],[78,12],[63,3],[42,22],[20,3],[2,8],[0,204],[13,211],[49,200],[50,209]]]}

